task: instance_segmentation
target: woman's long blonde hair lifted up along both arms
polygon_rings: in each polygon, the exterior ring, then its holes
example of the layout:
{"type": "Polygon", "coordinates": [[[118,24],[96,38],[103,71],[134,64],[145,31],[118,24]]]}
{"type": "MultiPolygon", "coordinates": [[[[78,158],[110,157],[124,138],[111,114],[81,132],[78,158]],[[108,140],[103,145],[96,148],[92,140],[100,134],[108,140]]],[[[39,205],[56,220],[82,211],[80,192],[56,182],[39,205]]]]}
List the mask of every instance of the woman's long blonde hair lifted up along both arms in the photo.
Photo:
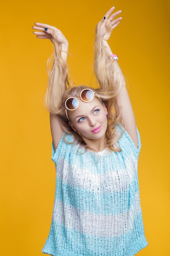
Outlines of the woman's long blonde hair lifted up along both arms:
{"type": "MultiPolygon", "coordinates": [[[[97,93],[108,110],[106,146],[110,150],[120,151],[117,142],[121,137],[121,133],[117,132],[116,126],[122,124],[122,119],[120,111],[118,111],[118,114],[115,111],[115,104],[118,106],[117,95],[120,88],[125,85],[125,81],[117,61],[109,57],[108,49],[104,46],[103,39],[100,35],[100,25],[101,22],[96,27],[94,46],[94,73],[97,79],[97,89],[90,89],[97,93]]],[[[107,29],[110,29],[109,26],[107,29]]],[[[53,40],[53,43],[54,59],[46,92],[46,106],[49,112],[57,116],[64,131],[74,135],[75,140],[73,143],[78,143],[88,148],[82,137],[78,133],[76,134],[68,124],[65,112],[66,99],[68,97],[75,97],[75,95],[80,94],[87,87],[85,85],[70,86],[68,82],[68,66],[62,58],[61,45],[55,40],[53,40]]]]}

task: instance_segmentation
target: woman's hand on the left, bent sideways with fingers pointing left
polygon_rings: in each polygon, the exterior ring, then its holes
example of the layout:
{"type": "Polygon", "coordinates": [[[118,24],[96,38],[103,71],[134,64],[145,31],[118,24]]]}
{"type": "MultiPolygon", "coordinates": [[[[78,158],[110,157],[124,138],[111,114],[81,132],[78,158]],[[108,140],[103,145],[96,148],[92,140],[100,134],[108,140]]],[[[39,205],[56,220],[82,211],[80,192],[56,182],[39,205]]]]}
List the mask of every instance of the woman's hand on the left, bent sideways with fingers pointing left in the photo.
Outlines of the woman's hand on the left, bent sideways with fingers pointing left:
{"type": "Polygon", "coordinates": [[[62,31],[56,27],[50,26],[44,23],[35,22],[33,29],[38,31],[33,31],[33,34],[37,35],[37,38],[50,39],[52,43],[57,42],[59,45],[68,45],[68,41],[62,34],[62,31]]]}

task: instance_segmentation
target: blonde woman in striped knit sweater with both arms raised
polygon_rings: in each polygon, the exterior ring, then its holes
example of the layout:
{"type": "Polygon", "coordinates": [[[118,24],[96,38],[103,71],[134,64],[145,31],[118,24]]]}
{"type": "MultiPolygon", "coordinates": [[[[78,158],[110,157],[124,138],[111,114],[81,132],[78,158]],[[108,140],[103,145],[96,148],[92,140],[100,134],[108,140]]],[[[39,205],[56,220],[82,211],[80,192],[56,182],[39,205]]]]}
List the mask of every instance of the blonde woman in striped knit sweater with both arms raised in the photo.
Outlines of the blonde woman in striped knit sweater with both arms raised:
{"type": "Polygon", "coordinates": [[[33,26],[38,38],[54,44],[46,104],[56,191],[42,250],[52,256],[133,256],[147,245],[137,177],[140,136],[118,57],[107,42],[121,20],[114,9],[96,27],[96,90],[69,85],[62,32],[33,26]]]}

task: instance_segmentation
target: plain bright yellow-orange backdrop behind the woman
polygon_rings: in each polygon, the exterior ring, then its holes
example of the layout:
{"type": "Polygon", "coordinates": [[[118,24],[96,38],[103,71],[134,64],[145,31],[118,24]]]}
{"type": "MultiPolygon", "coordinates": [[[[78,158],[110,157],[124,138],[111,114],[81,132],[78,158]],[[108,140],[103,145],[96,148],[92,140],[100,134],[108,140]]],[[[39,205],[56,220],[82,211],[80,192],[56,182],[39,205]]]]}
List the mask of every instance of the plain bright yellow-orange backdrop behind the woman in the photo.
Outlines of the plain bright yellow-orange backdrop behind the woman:
{"type": "Polygon", "coordinates": [[[115,5],[123,20],[110,39],[128,80],[140,130],[139,186],[148,247],[140,256],[170,255],[169,0],[9,0],[0,4],[0,255],[40,256],[55,193],[49,114],[43,107],[48,40],[34,22],[61,29],[70,43],[75,84],[92,79],[96,23],[115,5]]]}

